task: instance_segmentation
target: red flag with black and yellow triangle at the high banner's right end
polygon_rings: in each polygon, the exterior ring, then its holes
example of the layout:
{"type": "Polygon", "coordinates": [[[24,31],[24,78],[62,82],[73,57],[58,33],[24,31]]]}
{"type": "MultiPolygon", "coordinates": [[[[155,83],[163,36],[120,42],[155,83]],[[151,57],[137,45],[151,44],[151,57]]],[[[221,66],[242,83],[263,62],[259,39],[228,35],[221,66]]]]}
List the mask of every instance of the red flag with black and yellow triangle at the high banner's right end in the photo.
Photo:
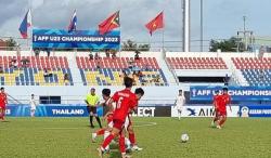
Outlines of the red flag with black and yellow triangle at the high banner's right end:
{"type": "Polygon", "coordinates": [[[104,22],[99,24],[99,32],[100,35],[104,35],[114,28],[119,27],[119,11],[111,15],[108,18],[106,18],[104,22]]]}

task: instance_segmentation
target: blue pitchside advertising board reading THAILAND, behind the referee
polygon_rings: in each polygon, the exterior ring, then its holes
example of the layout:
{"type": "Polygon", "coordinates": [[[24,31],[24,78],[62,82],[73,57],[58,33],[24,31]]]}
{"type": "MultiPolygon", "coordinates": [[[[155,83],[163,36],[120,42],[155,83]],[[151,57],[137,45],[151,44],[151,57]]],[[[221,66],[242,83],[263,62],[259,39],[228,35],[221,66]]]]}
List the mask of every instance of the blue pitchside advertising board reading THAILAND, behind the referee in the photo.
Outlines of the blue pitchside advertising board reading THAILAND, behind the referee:
{"type": "MultiPolygon", "coordinates": [[[[28,117],[30,116],[30,106],[9,104],[5,109],[5,115],[10,117],[28,117]]],[[[98,115],[103,116],[103,107],[98,108],[98,115]]],[[[40,104],[36,109],[36,117],[87,117],[89,113],[86,104],[60,104],[60,105],[43,105],[40,104]]]]}

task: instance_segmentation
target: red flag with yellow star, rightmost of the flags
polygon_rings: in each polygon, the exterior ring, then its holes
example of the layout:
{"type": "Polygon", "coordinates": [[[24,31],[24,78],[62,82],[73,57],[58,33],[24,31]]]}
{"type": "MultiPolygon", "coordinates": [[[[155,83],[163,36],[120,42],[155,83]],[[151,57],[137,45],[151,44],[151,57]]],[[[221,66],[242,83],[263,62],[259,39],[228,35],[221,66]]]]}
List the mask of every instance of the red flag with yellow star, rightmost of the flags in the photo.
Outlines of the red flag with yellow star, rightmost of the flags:
{"type": "Polygon", "coordinates": [[[164,13],[160,12],[154,19],[149,22],[145,27],[149,29],[151,36],[153,35],[153,31],[155,31],[158,28],[164,27],[164,13]]]}

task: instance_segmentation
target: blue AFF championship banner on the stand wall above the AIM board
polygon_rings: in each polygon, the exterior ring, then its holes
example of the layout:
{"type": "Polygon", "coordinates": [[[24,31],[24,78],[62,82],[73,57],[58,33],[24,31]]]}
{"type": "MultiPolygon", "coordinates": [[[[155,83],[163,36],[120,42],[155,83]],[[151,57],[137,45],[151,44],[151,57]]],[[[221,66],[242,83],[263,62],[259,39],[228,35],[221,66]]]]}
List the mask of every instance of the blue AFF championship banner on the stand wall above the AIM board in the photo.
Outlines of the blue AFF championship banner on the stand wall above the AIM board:
{"type": "MultiPolygon", "coordinates": [[[[222,87],[190,87],[190,100],[211,101],[222,87]]],[[[271,87],[229,87],[232,101],[271,101],[271,87]]]]}

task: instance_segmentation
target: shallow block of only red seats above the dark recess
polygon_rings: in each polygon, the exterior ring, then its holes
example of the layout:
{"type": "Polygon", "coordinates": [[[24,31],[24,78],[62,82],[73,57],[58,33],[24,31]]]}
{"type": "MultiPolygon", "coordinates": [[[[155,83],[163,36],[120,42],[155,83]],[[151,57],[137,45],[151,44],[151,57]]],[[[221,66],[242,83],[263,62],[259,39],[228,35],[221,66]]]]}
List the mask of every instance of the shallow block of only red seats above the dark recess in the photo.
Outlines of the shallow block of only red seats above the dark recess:
{"type": "Polygon", "coordinates": [[[222,57],[167,57],[172,69],[228,69],[222,57]]]}

